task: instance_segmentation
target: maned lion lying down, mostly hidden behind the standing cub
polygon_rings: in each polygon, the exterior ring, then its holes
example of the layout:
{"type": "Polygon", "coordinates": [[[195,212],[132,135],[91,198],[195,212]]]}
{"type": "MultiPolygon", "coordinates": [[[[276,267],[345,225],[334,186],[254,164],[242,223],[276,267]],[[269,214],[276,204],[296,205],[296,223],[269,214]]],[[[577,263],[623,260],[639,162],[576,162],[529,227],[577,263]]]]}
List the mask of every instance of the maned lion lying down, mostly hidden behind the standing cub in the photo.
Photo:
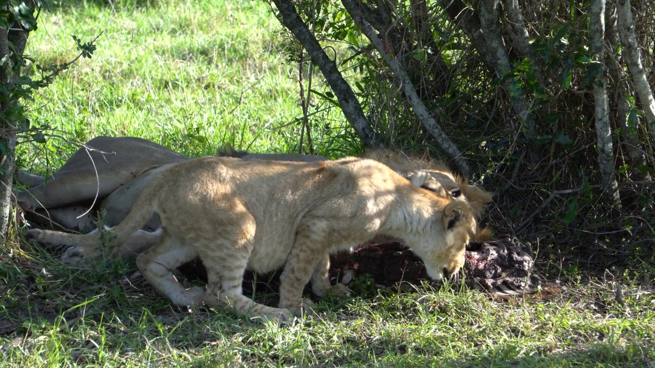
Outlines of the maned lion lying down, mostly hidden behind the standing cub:
{"type": "MultiPolygon", "coordinates": [[[[154,175],[163,172],[170,164],[188,160],[187,157],[155,142],[133,137],[99,136],[91,139],[46,180],[29,174],[18,174],[20,183],[29,189],[16,191],[18,204],[32,215],[31,220],[41,225],[59,226],[62,229],[94,229],[94,217],[104,213],[103,223],[113,227],[132,209],[141,189],[154,175]],[[88,151],[86,147],[92,148],[88,151]]],[[[250,154],[226,149],[219,155],[248,159],[315,161],[323,156],[297,154],[250,154]]],[[[410,158],[397,151],[370,151],[365,154],[405,176],[417,170],[426,170],[439,183],[443,195],[470,204],[475,217],[481,215],[491,193],[468,185],[462,177],[453,175],[445,165],[425,158],[410,158]]],[[[424,187],[428,187],[426,183],[424,187]]],[[[434,185],[432,185],[435,187],[434,185]]],[[[146,229],[159,227],[155,215],[146,229]]],[[[474,229],[476,225],[473,226],[474,229]]]]}

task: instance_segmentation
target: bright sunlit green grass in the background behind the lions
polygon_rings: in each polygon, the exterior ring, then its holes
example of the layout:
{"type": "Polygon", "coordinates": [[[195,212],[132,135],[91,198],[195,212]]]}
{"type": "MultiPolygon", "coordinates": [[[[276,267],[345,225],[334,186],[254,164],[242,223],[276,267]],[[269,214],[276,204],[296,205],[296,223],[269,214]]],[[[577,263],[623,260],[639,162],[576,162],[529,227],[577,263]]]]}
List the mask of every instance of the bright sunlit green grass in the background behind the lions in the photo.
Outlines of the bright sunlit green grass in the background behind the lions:
{"type": "MultiPolygon", "coordinates": [[[[30,106],[35,120],[71,133],[69,139],[140,136],[189,156],[212,155],[226,144],[254,152],[298,150],[297,66],[285,63],[288,41],[266,3],[114,3],[61,1],[41,14],[26,50],[37,64],[72,60],[77,51],[70,35],[83,42],[100,37],[92,59],[79,60],[37,92],[30,106]]],[[[326,118],[333,129],[314,131],[318,151],[357,153],[357,144],[333,149],[334,139],[352,130],[339,111],[326,118]]],[[[75,150],[58,139],[48,148],[55,167],[75,150]]],[[[23,166],[31,168],[44,156],[24,152],[29,164],[23,166]]]]}

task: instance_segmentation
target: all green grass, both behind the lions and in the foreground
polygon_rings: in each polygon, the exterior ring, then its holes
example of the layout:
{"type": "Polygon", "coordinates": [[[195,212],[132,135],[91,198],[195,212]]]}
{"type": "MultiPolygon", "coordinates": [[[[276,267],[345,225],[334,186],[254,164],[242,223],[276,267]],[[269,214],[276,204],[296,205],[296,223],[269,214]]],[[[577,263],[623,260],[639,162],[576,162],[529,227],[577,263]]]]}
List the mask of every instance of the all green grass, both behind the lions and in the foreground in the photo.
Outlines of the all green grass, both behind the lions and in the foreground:
{"type": "MultiPolygon", "coordinates": [[[[73,58],[71,34],[102,36],[91,60],[80,60],[30,106],[35,120],[80,141],[141,136],[189,156],[224,144],[296,150],[297,71],[284,64],[279,30],[261,1],[53,3],[28,43],[40,64],[73,58]]],[[[320,153],[361,149],[338,111],[325,119],[332,130],[314,131],[320,153]]],[[[48,158],[56,168],[74,149],[54,138],[45,150],[22,145],[21,164],[45,170],[48,158]]],[[[81,271],[47,249],[9,248],[0,248],[0,367],[655,364],[655,297],[636,277],[578,272],[561,293],[506,303],[477,291],[393,293],[356,280],[352,297],[320,301],[312,322],[280,327],[171,306],[130,278],[134,263],[81,271]]],[[[275,295],[255,297],[276,303],[275,295]]]]}

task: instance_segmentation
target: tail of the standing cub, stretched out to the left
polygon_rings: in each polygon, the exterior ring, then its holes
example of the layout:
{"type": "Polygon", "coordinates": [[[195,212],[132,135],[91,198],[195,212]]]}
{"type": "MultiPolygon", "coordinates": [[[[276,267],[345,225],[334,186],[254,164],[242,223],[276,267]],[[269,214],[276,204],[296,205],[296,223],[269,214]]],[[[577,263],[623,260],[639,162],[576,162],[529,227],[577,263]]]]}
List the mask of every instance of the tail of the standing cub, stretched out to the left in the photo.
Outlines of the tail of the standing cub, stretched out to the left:
{"type": "Polygon", "coordinates": [[[62,244],[65,246],[96,246],[100,247],[103,242],[111,247],[120,246],[130,239],[134,233],[145,225],[155,212],[157,200],[157,191],[148,190],[151,185],[143,189],[140,196],[132,206],[132,211],[119,223],[113,227],[113,231],[100,232],[94,230],[88,234],[71,234],[55,230],[31,229],[26,236],[28,239],[34,239],[39,242],[62,244]],[[115,235],[114,235],[115,234],[115,235]]]}

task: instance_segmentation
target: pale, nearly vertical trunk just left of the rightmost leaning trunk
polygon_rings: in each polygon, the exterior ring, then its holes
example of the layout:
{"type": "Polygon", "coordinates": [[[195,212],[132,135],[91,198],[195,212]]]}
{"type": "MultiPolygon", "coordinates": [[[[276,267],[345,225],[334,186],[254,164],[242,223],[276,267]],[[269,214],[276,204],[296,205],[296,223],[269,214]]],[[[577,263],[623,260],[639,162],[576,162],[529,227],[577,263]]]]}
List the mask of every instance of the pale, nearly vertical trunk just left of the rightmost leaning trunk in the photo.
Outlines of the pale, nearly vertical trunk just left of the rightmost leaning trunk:
{"type": "Polygon", "coordinates": [[[593,101],[595,104],[595,125],[598,149],[598,164],[603,181],[601,190],[605,191],[610,202],[618,207],[620,198],[618,196],[618,184],[614,177],[614,155],[612,147],[612,128],[609,117],[609,101],[607,98],[607,77],[605,77],[605,66],[603,57],[603,36],[605,35],[605,0],[591,1],[589,10],[589,33],[591,35],[591,55],[603,69],[603,73],[597,75],[593,83],[593,101]]]}

